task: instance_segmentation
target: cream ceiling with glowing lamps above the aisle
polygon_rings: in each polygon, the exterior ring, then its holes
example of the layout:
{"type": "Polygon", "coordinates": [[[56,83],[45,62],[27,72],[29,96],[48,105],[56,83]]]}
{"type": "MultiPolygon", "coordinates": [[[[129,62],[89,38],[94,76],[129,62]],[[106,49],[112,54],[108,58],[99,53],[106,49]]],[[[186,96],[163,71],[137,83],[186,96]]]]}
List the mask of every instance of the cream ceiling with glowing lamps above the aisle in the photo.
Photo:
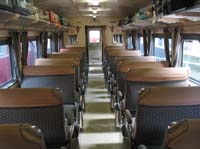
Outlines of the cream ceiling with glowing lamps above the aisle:
{"type": "Polygon", "coordinates": [[[39,8],[53,10],[66,17],[133,15],[151,0],[34,0],[39,8]]]}

